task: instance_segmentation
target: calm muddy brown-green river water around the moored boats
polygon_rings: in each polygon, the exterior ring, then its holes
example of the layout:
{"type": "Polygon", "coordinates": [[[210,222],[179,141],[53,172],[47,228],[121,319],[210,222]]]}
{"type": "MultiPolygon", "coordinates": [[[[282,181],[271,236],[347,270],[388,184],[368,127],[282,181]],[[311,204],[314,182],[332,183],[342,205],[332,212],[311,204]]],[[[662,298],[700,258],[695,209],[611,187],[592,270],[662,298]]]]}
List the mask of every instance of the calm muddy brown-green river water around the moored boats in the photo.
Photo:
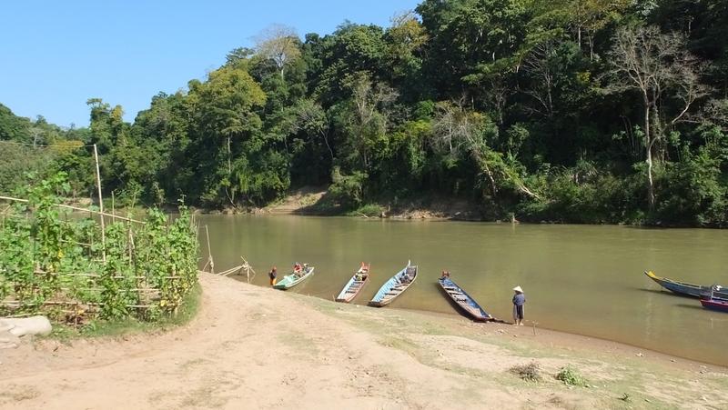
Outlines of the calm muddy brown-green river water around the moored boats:
{"type": "Polygon", "coordinates": [[[661,292],[642,275],[652,269],[686,282],[728,285],[728,231],[289,215],[203,215],[200,221],[209,228],[217,270],[239,265],[245,255],[258,271],[257,285],[268,285],[271,265],[283,274],[308,262],[316,274],[290,292],[331,299],[365,261],[372,281],[353,303],[366,305],[411,259],[420,277],[387,308],[457,315],[436,285],[448,269],[496,317],[510,320],[511,288],[521,285],[529,325],[728,365],[728,314],[661,292]]]}

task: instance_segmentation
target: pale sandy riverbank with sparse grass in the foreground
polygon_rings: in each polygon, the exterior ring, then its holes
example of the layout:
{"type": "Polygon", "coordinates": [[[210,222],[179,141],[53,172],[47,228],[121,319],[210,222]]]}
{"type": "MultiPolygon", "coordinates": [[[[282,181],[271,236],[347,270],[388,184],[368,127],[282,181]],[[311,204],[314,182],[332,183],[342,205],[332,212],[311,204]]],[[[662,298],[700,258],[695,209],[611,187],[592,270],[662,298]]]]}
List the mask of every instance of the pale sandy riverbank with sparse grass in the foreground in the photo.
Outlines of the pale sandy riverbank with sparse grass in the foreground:
{"type": "Polygon", "coordinates": [[[200,281],[199,315],[183,328],[0,351],[0,407],[728,408],[723,367],[530,327],[200,281]],[[531,361],[540,383],[509,372],[531,361]],[[555,380],[564,365],[590,387],[555,380]]]}

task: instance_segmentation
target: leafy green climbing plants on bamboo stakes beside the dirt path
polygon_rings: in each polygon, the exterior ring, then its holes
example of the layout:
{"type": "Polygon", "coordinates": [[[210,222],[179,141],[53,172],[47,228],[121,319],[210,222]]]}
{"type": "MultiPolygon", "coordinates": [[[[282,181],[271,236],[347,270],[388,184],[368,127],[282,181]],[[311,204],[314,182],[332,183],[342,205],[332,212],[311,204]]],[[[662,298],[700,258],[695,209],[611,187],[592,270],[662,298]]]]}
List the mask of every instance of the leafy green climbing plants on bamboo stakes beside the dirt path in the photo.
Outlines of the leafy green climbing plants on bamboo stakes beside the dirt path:
{"type": "Polygon", "coordinates": [[[63,212],[65,174],[31,182],[0,218],[0,315],[155,321],[176,313],[197,284],[197,233],[185,206],[170,221],[158,210],[146,223],[63,212]]]}

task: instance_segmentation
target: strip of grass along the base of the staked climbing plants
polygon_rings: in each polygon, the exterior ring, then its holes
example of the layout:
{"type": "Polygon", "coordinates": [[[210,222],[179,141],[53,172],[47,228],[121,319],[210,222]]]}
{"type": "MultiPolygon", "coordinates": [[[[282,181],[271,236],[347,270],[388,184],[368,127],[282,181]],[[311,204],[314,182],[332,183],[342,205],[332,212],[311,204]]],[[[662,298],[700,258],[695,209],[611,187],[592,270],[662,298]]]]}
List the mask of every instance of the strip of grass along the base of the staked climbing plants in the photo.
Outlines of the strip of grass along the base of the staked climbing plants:
{"type": "Polygon", "coordinates": [[[54,325],[53,332],[47,337],[61,342],[70,342],[78,337],[113,337],[165,331],[180,325],[187,325],[197,315],[201,297],[202,287],[197,284],[183,299],[182,305],[177,310],[177,315],[166,315],[156,322],[142,322],[136,319],[113,322],[95,320],[77,329],[67,325],[54,325]]]}

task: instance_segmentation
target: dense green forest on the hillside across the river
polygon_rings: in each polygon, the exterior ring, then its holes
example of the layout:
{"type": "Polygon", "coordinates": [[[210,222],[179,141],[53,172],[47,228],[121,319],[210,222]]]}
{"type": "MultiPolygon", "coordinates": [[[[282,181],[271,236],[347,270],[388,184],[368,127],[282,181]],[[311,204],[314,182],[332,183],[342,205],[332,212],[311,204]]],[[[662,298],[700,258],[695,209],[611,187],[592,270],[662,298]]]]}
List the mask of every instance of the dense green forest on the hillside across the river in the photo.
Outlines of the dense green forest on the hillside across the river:
{"type": "Polygon", "coordinates": [[[725,227],[726,38],[724,0],[424,0],[388,27],[270,25],[133,123],[98,97],[81,128],[0,105],[0,195],[63,171],[95,196],[96,145],[119,206],[327,185],[341,210],[439,195],[484,220],[725,227]]]}

